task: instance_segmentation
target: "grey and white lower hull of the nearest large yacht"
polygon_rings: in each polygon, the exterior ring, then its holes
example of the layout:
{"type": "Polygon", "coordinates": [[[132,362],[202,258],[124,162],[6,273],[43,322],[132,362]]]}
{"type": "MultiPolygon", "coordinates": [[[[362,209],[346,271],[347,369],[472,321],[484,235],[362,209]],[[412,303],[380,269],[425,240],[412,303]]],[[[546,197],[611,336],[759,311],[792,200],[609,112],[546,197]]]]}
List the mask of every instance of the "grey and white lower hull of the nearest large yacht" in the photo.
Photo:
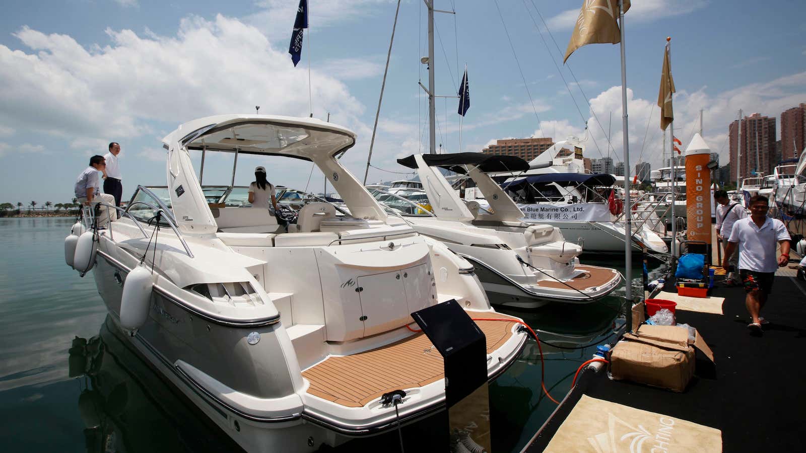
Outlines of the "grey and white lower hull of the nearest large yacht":
{"type": "MultiPolygon", "coordinates": [[[[112,250],[98,252],[98,260],[92,272],[98,293],[114,326],[131,341],[153,368],[180,389],[245,450],[288,453],[316,451],[322,445],[335,447],[352,438],[396,429],[397,421],[394,418],[351,425],[344,424],[337,418],[328,417],[328,414],[305,409],[300,396],[294,393],[290,384],[288,393],[261,395],[262,398],[251,395],[260,393],[261,389],[254,389],[254,392],[249,393],[233,390],[231,387],[248,388],[250,378],[253,377],[257,380],[272,380],[275,383],[278,380],[282,381],[282,376],[269,376],[272,374],[271,364],[267,364],[265,360],[254,359],[252,356],[244,356],[239,353],[239,345],[236,344],[252,331],[260,333],[260,343],[256,346],[266,343],[264,349],[267,349],[267,346],[271,347],[274,341],[282,342],[285,334],[280,331],[284,330],[281,322],[263,322],[262,326],[243,327],[217,325],[185,310],[179,301],[172,300],[171,297],[155,290],[152,296],[152,308],[143,326],[134,332],[123,328],[119,319],[123,282],[127,273],[136,264],[137,260],[134,257],[114,247],[112,250]],[[131,262],[128,262],[129,260],[131,262]],[[206,372],[218,371],[224,372],[224,375],[208,376],[190,363],[206,372]],[[251,366],[247,366],[249,364],[251,366]],[[228,376],[227,370],[240,370],[245,376],[240,376],[241,380],[233,383],[232,380],[239,379],[239,376],[228,376]],[[226,401],[226,397],[229,397],[230,401],[226,401]],[[244,400],[256,401],[253,408],[258,409],[247,411],[243,407],[231,404],[232,401],[244,400]],[[285,410],[260,411],[260,406],[266,405],[266,402],[274,404],[279,402],[285,410]]],[[[285,337],[287,338],[287,335],[285,337]]],[[[502,348],[509,351],[507,356],[493,360],[492,368],[488,368],[490,380],[505,372],[527,343],[526,336],[522,334],[513,335],[508,342],[511,343],[510,347],[502,348]]],[[[269,354],[272,352],[263,351],[260,355],[269,354]]],[[[276,353],[273,354],[277,356],[276,353]]],[[[439,382],[434,384],[434,388],[436,387],[440,387],[439,382]]],[[[434,389],[430,389],[430,393],[434,393],[434,389]]],[[[418,422],[444,409],[443,397],[430,397],[422,405],[416,406],[416,409],[401,411],[401,423],[418,422]]]]}

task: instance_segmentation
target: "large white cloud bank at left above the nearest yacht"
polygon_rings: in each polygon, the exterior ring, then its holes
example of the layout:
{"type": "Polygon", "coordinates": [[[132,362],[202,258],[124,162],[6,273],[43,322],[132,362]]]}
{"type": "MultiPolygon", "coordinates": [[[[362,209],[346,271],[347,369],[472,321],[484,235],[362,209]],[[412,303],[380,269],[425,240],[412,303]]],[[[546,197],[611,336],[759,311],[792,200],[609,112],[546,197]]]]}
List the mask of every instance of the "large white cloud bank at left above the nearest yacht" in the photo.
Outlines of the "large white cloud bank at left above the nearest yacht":
{"type": "MultiPolygon", "coordinates": [[[[222,15],[181,21],[174,37],[107,30],[85,48],[69,35],[23,27],[35,52],[0,45],[0,123],[73,140],[73,148],[152,134],[154,122],[251,111],[307,116],[307,77],[255,27],[222,15]],[[89,139],[87,139],[89,137],[89,139]]],[[[306,75],[306,73],[305,73],[306,75]]],[[[314,115],[350,127],[363,106],[342,82],[314,70],[314,115]]],[[[262,112],[261,112],[262,113],[262,112]]]]}

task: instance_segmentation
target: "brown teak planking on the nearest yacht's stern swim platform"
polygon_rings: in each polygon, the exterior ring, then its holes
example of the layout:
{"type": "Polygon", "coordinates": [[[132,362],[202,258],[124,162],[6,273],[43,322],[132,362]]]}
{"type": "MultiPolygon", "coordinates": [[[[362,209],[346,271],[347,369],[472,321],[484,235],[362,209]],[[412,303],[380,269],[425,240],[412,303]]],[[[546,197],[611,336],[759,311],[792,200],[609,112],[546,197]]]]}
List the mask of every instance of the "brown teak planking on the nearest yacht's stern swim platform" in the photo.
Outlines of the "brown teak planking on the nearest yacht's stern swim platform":
{"type": "MultiPolygon", "coordinates": [[[[467,311],[471,318],[513,318],[511,316],[467,311]]],[[[487,339],[487,351],[495,351],[512,334],[515,322],[476,321],[487,339]]],[[[307,393],[347,407],[361,407],[395,389],[422,387],[442,379],[439,351],[422,333],[411,335],[384,347],[353,355],[331,356],[306,369],[307,393]]]]}

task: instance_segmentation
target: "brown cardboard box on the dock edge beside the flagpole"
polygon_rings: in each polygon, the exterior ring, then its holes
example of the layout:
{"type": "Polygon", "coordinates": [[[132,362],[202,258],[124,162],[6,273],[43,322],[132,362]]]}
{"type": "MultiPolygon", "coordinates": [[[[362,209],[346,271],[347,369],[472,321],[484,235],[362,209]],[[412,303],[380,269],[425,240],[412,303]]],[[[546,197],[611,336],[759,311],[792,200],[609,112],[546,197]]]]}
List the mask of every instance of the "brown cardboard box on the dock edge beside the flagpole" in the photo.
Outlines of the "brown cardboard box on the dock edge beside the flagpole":
{"type": "Polygon", "coordinates": [[[626,333],[613,347],[610,374],[617,380],[683,392],[694,376],[695,347],[713,362],[713,352],[700,332],[690,342],[688,329],[645,324],[634,334],[626,333]]]}

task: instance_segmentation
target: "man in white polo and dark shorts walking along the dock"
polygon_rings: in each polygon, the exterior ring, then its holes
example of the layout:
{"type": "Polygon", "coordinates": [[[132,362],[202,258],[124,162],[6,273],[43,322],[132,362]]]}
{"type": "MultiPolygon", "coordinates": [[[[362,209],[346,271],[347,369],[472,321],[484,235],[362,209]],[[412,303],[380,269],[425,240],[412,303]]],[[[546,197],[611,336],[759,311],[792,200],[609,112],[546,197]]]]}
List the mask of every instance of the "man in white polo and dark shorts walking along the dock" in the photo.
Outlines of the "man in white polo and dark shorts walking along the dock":
{"type": "Polygon", "coordinates": [[[753,318],[747,327],[756,334],[761,334],[761,325],[767,323],[761,310],[772,291],[775,271],[789,262],[787,227],[777,218],[767,217],[769,209],[767,197],[756,195],[750,198],[750,217],[733,223],[725,258],[722,259],[722,267],[726,268],[730,254],[739,247],[739,275],[747,293],[745,305],[753,318]],[[780,255],[776,255],[775,243],[781,247],[780,255]]]}

